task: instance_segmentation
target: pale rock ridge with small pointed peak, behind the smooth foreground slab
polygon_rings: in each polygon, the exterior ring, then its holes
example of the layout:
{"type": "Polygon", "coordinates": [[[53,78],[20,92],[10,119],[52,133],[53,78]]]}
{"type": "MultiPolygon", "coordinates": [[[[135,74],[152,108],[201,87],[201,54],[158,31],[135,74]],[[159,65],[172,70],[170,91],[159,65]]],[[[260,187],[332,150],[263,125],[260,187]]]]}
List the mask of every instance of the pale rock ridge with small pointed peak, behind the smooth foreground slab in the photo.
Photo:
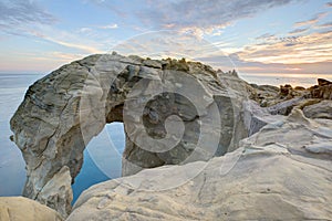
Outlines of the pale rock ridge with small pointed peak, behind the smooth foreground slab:
{"type": "Polygon", "coordinates": [[[269,124],[259,133],[241,140],[243,147],[284,148],[293,158],[320,164],[329,169],[332,167],[331,147],[323,144],[332,144],[332,120],[307,118],[299,108],[294,108],[286,120],[269,124]],[[319,146],[320,150],[312,151],[314,146],[319,146]],[[326,151],[322,150],[324,148],[326,151]]]}

